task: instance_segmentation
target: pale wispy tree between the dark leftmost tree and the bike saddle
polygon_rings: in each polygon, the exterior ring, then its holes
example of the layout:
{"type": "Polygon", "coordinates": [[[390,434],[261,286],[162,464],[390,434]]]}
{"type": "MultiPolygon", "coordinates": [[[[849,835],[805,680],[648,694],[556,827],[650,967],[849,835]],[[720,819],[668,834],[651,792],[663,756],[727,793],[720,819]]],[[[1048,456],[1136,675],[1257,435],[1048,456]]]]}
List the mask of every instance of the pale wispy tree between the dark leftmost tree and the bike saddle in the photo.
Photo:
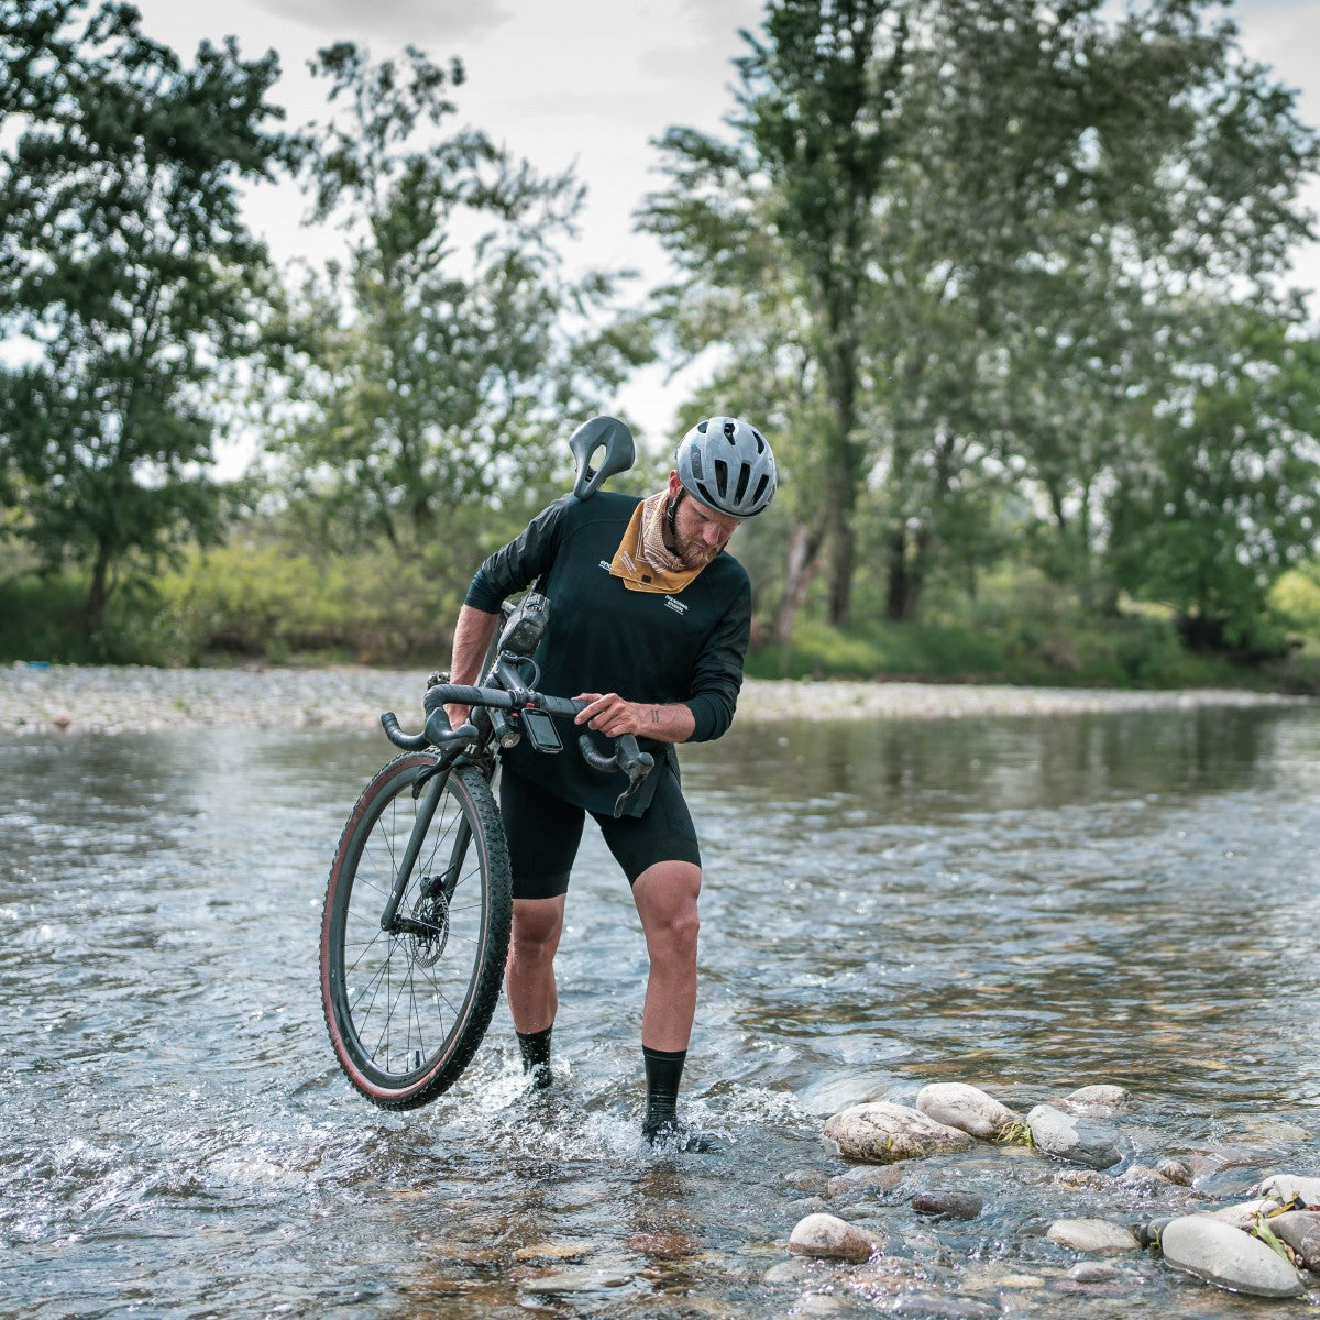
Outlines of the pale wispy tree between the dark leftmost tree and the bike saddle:
{"type": "Polygon", "coordinates": [[[318,135],[314,218],[341,220],[347,257],[293,308],[298,411],[281,449],[322,527],[403,549],[442,510],[535,486],[561,457],[552,437],[599,411],[647,342],[638,321],[601,327],[612,277],[565,273],[572,174],[441,132],[458,61],[409,48],[374,65],[343,44],[314,70],[345,107],[318,135]]]}

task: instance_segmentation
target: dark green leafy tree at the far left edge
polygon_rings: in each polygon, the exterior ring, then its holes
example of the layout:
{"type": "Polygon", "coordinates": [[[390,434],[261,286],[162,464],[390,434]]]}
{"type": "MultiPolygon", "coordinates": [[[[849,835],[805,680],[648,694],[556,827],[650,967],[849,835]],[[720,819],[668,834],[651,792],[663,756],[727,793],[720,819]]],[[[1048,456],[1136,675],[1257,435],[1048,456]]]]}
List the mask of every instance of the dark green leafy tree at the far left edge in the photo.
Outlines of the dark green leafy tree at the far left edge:
{"type": "Polygon", "coordinates": [[[293,148],[273,53],[185,67],[132,7],[83,9],[0,0],[0,471],[11,527],[88,570],[96,632],[125,568],[218,529],[213,388],[268,277],[239,181],[293,148]]]}

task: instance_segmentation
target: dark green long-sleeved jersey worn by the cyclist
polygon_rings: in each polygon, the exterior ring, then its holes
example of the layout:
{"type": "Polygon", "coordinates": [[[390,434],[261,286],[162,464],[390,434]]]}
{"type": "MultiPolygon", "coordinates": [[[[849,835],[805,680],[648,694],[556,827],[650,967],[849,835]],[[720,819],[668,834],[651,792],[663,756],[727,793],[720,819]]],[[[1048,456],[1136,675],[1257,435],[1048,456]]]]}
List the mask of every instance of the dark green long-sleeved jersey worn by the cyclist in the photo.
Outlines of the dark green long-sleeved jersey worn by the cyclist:
{"type": "MultiPolygon", "coordinates": [[[[616,692],[626,701],[682,702],[696,721],[692,741],[718,738],[733,722],[742,688],[751,635],[747,573],[726,550],[673,595],[630,591],[610,573],[610,561],[638,503],[607,491],[590,500],[556,500],[478,569],[467,605],[496,614],[507,597],[544,578],[550,620],[533,657],[543,692],[616,692]]],[[[561,721],[558,755],[536,752],[524,741],[503,759],[565,801],[609,813],[626,781],[582,760],[581,731],[561,721]]],[[[677,764],[667,744],[639,742],[656,755],[652,779],[663,770],[661,756],[677,764]]],[[[649,793],[639,795],[638,810],[630,814],[640,814],[648,801],[649,793]]]]}

